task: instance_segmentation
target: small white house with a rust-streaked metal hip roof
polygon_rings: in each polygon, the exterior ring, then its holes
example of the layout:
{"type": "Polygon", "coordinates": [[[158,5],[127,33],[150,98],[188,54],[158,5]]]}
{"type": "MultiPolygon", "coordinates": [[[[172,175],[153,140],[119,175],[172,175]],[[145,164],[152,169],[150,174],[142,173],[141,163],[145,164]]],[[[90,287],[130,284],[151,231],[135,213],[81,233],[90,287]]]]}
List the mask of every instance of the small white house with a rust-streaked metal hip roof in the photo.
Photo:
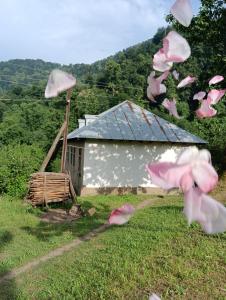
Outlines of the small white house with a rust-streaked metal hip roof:
{"type": "Polygon", "coordinates": [[[85,115],[68,135],[67,170],[78,194],[159,192],[146,164],[175,161],[202,139],[124,101],[98,116],[85,115]]]}

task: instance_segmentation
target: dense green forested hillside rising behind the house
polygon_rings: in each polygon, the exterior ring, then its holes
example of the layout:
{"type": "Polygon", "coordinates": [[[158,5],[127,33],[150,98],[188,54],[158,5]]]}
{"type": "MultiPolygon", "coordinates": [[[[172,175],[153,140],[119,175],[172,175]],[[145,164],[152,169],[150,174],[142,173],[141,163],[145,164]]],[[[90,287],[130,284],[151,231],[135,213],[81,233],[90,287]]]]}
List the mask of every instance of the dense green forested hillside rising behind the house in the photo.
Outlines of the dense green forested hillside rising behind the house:
{"type": "MultiPolygon", "coordinates": [[[[197,119],[194,114],[199,106],[198,101],[192,100],[196,92],[209,90],[208,80],[214,75],[226,78],[226,9],[221,0],[201,2],[200,12],[193,18],[189,28],[175,23],[168,16],[169,27],[160,28],[152,39],[92,65],[62,66],[42,60],[0,62],[0,192],[9,191],[12,182],[6,180],[7,174],[15,169],[17,155],[21,154],[18,148],[20,146],[15,148],[14,145],[22,144],[27,147],[22,152],[28,157],[33,155],[34,149],[40,150],[38,157],[41,160],[40,153],[44,156],[61,126],[65,108],[64,95],[44,100],[48,74],[54,68],[71,72],[78,81],[73,93],[70,129],[77,126],[78,118],[85,113],[99,114],[130,99],[208,141],[216,167],[219,170],[226,168],[226,97],[216,105],[218,114],[214,118],[202,120],[197,119]],[[188,61],[175,64],[174,69],[180,73],[180,79],[191,75],[198,77],[198,81],[178,90],[178,82],[170,75],[166,81],[167,94],[160,96],[155,104],[146,96],[147,77],[151,72],[152,57],[162,47],[162,39],[172,27],[186,37],[192,49],[188,61]],[[177,100],[182,119],[169,116],[161,106],[165,97],[177,100]],[[3,153],[10,155],[2,155],[3,153]],[[15,157],[15,161],[12,157],[15,157]]],[[[216,88],[226,88],[225,80],[216,85],[216,88]]],[[[35,169],[37,163],[34,164],[35,169]]],[[[18,167],[18,174],[23,168],[27,168],[26,164],[18,167]]],[[[13,176],[14,184],[15,178],[17,177],[13,176]]],[[[21,179],[18,180],[18,186],[23,191],[21,179]]]]}

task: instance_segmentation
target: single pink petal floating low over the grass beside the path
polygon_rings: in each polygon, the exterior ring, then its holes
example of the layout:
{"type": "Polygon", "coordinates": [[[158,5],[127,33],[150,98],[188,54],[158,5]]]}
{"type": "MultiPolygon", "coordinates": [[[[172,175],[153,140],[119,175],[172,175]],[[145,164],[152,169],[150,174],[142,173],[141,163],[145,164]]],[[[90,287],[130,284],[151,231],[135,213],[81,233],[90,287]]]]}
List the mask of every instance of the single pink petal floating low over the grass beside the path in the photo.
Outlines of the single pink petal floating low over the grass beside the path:
{"type": "Polygon", "coordinates": [[[109,224],[123,225],[129,221],[135,212],[135,208],[130,204],[124,204],[111,212],[109,224]]]}

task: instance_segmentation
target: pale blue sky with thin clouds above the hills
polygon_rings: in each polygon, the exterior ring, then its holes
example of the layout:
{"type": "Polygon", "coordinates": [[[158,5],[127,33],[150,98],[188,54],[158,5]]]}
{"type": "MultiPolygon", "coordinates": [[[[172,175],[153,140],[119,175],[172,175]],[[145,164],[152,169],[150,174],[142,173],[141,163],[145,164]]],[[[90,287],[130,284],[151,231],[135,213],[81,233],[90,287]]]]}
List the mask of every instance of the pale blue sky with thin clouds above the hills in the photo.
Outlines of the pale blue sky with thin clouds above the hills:
{"type": "MultiPolygon", "coordinates": [[[[7,0],[0,61],[92,63],[151,38],[174,0],[7,0]]],[[[200,0],[191,0],[197,13],[200,0]]]]}

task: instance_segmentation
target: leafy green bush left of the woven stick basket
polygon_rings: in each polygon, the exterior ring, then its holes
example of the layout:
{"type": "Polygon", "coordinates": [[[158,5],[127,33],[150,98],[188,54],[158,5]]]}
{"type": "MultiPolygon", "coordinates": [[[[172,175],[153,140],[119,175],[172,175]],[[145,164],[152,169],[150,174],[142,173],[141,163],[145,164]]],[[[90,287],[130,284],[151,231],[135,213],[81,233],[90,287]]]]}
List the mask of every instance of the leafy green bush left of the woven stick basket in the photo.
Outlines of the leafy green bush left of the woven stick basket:
{"type": "Polygon", "coordinates": [[[8,145],[0,149],[0,193],[23,197],[28,180],[41,165],[44,153],[36,145],[8,145]]]}

